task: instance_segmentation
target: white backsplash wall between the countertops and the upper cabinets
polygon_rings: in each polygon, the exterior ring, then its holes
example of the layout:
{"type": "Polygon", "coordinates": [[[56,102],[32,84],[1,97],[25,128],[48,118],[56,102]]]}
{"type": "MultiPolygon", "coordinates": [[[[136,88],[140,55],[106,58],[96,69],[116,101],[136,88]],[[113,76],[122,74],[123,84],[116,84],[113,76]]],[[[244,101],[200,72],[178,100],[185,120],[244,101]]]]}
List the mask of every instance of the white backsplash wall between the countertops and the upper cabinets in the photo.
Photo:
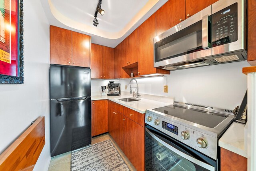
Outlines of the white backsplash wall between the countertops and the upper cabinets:
{"type": "MultiPolygon", "coordinates": [[[[224,109],[234,109],[240,105],[247,88],[246,75],[242,68],[248,62],[234,62],[215,66],[190,68],[166,75],[168,93],[164,93],[165,77],[137,79],[139,93],[174,97],[176,101],[210,105],[224,109]]],[[[102,81],[102,84],[106,81],[102,81]]],[[[121,90],[125,90],[130,79],[120,80],[121,90]]],[[[134,87],[135,81],[132,82],[134,87]]],[[[100,81],[92,81],[92,89],[99,89],[100,81]],[[94,87],[95,86],[95,87],[94,87]]],[[[103,84],[104,85],[104,84],[103,84]]]]}

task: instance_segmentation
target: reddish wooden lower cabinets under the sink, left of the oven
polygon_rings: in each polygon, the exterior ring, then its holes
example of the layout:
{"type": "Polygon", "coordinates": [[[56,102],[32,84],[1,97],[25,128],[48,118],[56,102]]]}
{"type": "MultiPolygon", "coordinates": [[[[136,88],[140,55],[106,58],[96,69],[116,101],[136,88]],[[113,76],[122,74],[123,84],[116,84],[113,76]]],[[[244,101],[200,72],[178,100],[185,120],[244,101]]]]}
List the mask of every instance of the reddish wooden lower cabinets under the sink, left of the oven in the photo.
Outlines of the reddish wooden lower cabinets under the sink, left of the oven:
{"type": "Polygon", "coordinates": [[[108,132],[137,171],[144,171],[145,128],[141,120],[144,121],[145,114],[138,113],[110,100],[108,101],[108,107],[110,108],[108,110],[108,132]],[[141,119],[138,115],[142,115],[144,118],[141,119]]]}

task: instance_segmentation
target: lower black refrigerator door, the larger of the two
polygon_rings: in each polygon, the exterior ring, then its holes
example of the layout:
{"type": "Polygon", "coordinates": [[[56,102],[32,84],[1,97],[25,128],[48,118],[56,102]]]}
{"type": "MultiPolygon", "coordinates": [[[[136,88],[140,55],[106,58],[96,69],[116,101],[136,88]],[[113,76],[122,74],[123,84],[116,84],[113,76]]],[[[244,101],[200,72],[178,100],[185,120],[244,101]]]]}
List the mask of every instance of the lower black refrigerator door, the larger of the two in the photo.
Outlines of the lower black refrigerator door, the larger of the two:
{"type": "Polygon", "coordinates": [[[50,100],[51,156],[91,144],[91,98],[50,100]]]}

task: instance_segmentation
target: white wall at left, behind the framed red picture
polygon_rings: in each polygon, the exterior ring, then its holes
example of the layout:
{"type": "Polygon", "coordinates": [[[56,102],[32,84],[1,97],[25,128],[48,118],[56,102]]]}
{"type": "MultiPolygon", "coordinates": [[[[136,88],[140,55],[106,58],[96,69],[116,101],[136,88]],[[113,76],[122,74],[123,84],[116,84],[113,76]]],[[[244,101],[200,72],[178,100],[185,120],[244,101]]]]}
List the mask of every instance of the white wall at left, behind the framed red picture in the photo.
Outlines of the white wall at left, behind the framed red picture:
{"type": "Polygon", "coordinates": [[[49,136],[49,24],[39,0],[24,0],[24,84],[0,84],[0,153],[39,116],[46,144],[34,170],[47,171],[49,136]]]}

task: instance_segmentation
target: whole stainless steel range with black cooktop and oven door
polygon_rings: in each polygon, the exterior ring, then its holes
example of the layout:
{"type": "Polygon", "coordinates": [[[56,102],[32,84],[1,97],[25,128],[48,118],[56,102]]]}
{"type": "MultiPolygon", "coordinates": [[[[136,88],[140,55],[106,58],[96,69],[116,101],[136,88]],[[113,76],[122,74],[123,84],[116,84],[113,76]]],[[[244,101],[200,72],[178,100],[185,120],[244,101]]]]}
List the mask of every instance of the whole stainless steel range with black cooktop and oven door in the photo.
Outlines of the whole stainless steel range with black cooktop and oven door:
{"type": "Polygon", "coordinates": [[[218,171],[218,139],[232,110],[174,101],[146,110],[146,171],[218,171]]]}

